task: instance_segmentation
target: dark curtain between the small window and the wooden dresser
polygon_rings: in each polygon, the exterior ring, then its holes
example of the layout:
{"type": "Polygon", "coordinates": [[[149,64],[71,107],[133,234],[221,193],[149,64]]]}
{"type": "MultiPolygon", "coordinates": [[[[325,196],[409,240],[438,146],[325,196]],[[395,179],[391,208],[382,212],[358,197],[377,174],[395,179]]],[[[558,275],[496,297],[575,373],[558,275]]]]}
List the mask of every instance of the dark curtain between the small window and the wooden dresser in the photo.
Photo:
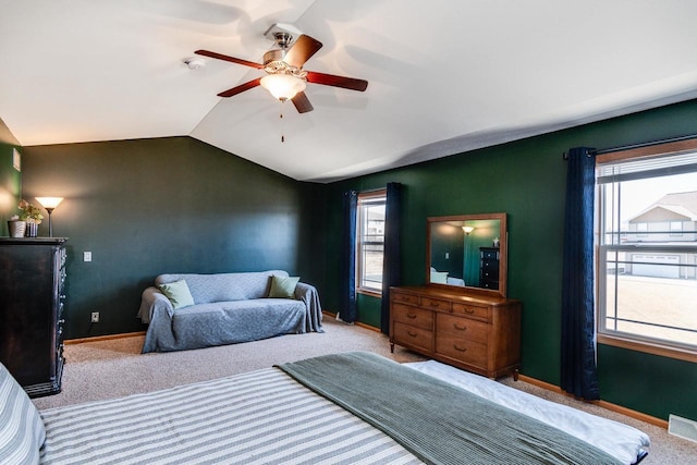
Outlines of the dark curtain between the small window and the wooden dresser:
{"type": "Polygon", "coordinates": [[[400,205],[402,184],[389,183],[384,206],[384,250],[382,255],[382,302],[380,330],[390,333],[390,286],[401,284],[400,205]]]}

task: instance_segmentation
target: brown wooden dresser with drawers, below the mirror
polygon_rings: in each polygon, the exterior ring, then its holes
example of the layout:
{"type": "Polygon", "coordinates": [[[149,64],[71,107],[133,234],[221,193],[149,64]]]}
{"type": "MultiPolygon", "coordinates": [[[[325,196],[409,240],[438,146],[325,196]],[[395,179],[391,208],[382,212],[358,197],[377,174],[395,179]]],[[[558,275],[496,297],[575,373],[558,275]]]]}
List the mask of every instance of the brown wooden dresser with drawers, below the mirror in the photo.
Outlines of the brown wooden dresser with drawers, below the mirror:
{"type": "Polygon", "coordinates": [[[489,378],[521,367],[521,302],[435,286],[390,289],[390,347],[489,378]]]}

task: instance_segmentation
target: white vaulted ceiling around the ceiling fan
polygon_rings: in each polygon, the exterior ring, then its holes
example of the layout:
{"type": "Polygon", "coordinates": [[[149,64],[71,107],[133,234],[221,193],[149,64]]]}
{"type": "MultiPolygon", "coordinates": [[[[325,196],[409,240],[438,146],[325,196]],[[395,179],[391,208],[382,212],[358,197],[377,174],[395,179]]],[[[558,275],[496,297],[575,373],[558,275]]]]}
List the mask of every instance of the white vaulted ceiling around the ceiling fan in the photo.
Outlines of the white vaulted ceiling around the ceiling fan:
{"type": "Polygon", "coordinates": [[[697,97],[694,0],[0,0],[0,119],[23,146],[191,135],[329,182],[697,97]],[[264,32],[321,42],[298,114],[264,32]],[[285,143],[281,143],[281,134],[285,143]]]}

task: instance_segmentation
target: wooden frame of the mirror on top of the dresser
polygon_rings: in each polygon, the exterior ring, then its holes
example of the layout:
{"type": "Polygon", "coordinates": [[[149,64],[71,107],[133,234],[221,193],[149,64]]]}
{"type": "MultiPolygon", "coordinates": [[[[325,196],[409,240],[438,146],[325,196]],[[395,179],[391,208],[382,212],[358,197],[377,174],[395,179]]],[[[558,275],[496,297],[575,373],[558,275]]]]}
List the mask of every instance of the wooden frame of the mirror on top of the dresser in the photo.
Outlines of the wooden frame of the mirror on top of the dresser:
{"type": "Polygon", "coordinates": [[[449,291],[467,291],[482,294],[494,294],[501,297],[506,296],[508,269],[509,269],[509,229],[506,224],[506,213],[480,213],[480,215],[456,215],[450,217],[428,217],[426,219],[426,285],[449,291]],[[431,227],[439,222],[464,222],[473,220],[499,220],[499,289],[486,289],[473,285],[451,285],[431,282],[431,227]]]}

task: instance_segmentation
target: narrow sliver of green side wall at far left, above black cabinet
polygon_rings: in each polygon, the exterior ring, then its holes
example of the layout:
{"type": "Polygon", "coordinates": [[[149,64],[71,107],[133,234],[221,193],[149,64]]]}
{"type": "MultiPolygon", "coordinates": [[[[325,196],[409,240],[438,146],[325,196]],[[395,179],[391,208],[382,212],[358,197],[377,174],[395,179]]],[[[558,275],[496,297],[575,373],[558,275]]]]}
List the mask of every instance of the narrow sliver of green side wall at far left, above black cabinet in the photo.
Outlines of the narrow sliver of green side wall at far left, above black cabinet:
{"type": "Polygon", "coordinates": [[[21,200],[22,174],[12,164],[14,148],[20,150],[20,143],[0,120],[0,236],[9,234],[7,220],[17,215],[21,200]]]}

